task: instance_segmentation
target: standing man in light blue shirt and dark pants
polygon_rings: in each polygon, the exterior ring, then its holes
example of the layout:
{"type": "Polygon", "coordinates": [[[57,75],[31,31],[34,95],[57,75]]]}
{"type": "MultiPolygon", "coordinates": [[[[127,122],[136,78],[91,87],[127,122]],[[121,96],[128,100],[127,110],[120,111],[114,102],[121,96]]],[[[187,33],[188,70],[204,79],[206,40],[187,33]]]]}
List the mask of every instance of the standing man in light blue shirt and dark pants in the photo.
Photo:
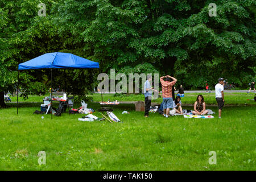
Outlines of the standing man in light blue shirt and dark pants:
{"type": "Polygon", "coordinates": [[[152,97],[152,90],[155,92],[158,92],[158,90],[155,90],[154,88],[151,87],[151,81],[152,81],[152,76],[147,75],[147,80],[144,83],[144,96],[145,96],[145,114],[144,117],[148,117],[148,111],[150,110],[151,106],[151,97],[152,97]]]}

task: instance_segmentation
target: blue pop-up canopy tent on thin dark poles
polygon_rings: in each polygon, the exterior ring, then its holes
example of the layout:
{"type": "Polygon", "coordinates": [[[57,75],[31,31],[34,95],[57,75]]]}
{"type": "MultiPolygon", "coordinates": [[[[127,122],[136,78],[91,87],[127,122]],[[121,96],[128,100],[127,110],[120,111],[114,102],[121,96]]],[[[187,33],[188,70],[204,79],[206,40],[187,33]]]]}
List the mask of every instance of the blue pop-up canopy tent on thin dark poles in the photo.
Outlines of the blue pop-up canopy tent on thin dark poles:
{"type": "MultiPolygon", "coordinates": [[[[19,72],[27,69],[51,69],[51,84],[52,84],[52,69],[86,69],[86,68],[100,68],[99,64],[84,59],[82,57],[73,55],[72,53],[53,52],[38,56],[25,63],[19,64],[19,72]]],[[[18,73],[18,88],[19,92],[19,73],[18,73]]],[[[51,89],[52,97],[52,89],[51,89]]],[[[52,98],[51,98],[52,105],[52,98]]],[[[52,113],[52,107],[51,107],[52,113]]],[[[17,94],[17,114],[18,114],[18,94],[17,94]]]]}

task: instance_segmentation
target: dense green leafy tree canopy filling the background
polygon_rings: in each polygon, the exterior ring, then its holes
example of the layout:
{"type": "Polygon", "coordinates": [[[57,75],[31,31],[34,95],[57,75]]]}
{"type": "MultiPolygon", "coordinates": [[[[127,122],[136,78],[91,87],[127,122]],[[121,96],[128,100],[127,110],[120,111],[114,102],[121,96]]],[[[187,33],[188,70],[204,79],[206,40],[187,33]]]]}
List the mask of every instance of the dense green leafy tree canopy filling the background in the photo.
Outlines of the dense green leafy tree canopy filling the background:
{"type": "MultiPolygon", "coordinates": [[[[255,80],[254,0],[46,0],[46,16],[39,3],[0,0],[0,91],[13,88],[19,63],[57,51],[100,63],[99,71],[67,71],[80,79],[72,83],[76,94],[110,68],[172,75],[185,89],[213,86],[218,77],[241,87],[255,80]],[[210,3],[217,16],[209,16],[210,3]]],[[[46,73],[22,73],[24,92],[43,92],[46,73]]],[[[56,71],[55,86],[61,77],[56,71]]]]}

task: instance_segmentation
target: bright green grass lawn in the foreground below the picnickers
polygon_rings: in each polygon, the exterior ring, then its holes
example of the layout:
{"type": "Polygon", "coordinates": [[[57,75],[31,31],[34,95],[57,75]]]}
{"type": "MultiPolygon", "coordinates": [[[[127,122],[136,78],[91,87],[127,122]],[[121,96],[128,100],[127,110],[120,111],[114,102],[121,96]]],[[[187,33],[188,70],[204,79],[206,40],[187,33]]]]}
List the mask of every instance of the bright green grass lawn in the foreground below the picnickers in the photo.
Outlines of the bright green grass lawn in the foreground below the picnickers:
{"type": "Polygon", "coordinates": [[[84,114],[42,119],[32,114],[39,104],[20,104],[19,115],[15,107],[0,109],[0,170],[256,169],[255,106],[224,107],[222,119],[185,119],[144,118],[134,105],[121,104],[114,114],[122,122],[110,123],[78,121],[84,114]],[[46,151],[46,165],[39,166],[39,151],[46,151]],[[208,163],[209,151],[217,152],[216,165],[208,163]]]}

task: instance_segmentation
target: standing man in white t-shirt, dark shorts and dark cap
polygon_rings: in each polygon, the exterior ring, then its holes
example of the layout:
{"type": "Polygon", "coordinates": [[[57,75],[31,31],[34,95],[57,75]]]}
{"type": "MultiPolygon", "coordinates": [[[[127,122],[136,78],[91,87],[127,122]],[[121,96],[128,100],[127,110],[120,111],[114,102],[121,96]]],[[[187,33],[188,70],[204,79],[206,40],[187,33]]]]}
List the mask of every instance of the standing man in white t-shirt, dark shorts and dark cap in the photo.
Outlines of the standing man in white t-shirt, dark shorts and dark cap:
{"type": "Polygon", "coordinates": [[[221,111],[224,106],[224,78],[218,78],[218,84],[215,85],[215,97],[218,103],[218,118],[221,118],[221,111]]]}

